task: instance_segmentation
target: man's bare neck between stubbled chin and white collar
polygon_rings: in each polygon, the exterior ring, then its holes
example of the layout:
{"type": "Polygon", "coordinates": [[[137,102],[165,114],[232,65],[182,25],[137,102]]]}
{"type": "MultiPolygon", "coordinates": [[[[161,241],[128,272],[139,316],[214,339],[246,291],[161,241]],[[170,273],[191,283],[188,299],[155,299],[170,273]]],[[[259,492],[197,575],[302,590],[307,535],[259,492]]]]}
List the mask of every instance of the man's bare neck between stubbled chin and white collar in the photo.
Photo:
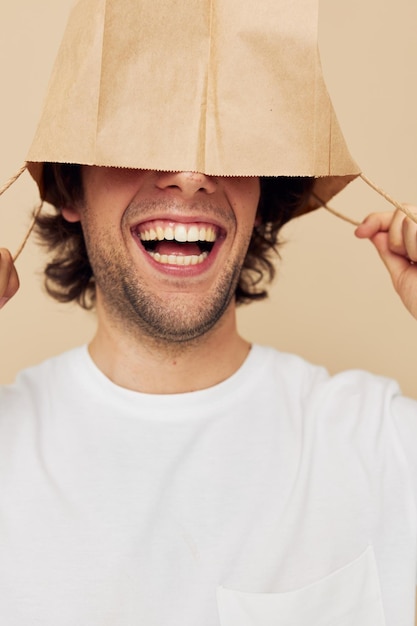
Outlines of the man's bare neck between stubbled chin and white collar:
{"type": "Polygon", "coordinates": [[[98,309],[97,333],[89,351],[115,384],[143,393],[171,394],[205,389],[229,378],[242,365],[250,344],[236,328],[235,304],[197,340],[162,344],[142,335],[132,339],[98,309]]]}

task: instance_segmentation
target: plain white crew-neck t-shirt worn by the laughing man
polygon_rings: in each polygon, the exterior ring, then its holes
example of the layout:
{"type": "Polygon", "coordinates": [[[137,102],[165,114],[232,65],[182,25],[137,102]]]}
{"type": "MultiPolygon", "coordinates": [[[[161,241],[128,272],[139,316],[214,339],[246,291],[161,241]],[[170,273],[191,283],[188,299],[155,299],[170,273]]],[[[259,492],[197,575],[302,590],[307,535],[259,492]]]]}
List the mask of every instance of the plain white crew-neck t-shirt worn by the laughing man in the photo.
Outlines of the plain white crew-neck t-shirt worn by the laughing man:
{"type": "Polygon", "coordinates": [[[416,457],[392,381],[254,346],[147,395],[77,348],[0,391],[0,624],[411,626],[416,457]]]}

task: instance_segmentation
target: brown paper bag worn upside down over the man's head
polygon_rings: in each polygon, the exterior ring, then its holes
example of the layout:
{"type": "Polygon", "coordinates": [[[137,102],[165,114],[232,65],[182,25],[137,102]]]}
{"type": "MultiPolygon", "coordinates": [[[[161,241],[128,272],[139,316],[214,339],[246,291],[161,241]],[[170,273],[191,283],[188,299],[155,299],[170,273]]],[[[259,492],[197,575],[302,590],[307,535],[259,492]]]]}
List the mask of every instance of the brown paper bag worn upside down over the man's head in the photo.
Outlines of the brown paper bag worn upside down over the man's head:
{"type": "Polygon", "coordinates": [[[359,168],[324,84],[317,23],[318,0],[79,0],[32,176],[41,188],[44,162],[314,176],[327,201],[359,168]]]}

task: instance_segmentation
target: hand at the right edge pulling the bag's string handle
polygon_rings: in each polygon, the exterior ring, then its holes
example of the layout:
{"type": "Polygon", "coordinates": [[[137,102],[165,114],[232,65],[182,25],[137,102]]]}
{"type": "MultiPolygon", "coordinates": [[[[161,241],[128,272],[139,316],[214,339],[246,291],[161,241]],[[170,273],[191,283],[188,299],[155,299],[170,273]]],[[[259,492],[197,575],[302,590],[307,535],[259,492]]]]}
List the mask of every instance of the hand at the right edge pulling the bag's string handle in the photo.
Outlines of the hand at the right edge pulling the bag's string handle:
{"type": "MultiPolygon", "coordinates": [[[[407,206],[417,215],[417,207],[407,206]]],[[[372,241],[395,290],[417,319],[417,224],[400,210],[373,213],[358,226],[355,235],[372,241]]]]}

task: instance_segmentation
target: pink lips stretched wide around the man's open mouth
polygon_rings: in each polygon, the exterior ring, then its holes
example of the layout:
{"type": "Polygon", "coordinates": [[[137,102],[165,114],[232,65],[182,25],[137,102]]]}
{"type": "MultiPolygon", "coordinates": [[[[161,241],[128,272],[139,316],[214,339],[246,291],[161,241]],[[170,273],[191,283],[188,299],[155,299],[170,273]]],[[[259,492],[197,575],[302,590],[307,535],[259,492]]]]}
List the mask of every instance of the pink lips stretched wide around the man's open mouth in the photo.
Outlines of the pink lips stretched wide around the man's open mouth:
{"type": "Polygon", "coordinates": [[[200,217],[200,216],[183,216],[183,215],[169,215],[169,216],[161,216],[158,215],[157,218],[152,217],[151,219],[144,219],[140,222],[136,222],[134,225],[132,225],[130,227],[130,232],[132,235],[133,240],[135,241],[135,244],[137,246],[137,248],[139,249],[139,252],[142,254],[142,256],[145,258],[146,262],[156,271],[158,271],[159,273],[165,274],[165,275],[171,275],[171,276],[176,276],[176,277],[193,277],[193,276],[199,276],[205,272],[207,272],[210,267],[215,263],[219,251],[227,237],[227,231],[225,229],[225,227],[221,224],[219,224],[219,222],[217,220],[212,220],[212,219],[207,219],[207,215],[205,215],[204,217],[200,217]],[[152,256],[150,254],[148,254],[148,252],[146,251],[143,242],[140,238],[139,235],[139,231],[141,229],[141,226],[143,224],[148,224],[148,223],[152,223],[152,222],[165,222],[165,224],[168,225],[177,225],[177,224],[200,224],[200,225],[206,225],[207,227],[212,227],[216,230],[217,232],[217,238],[213,243],[213,247],[210,251],[210,253],[208,254],[208,256],[201,261],[200,263],[196,264],[196,265],[173,265],[173,264],[169,264],[169,263],[159,263],[158,261],[156,261],[155,259],[152,258],[152,256]]]}

